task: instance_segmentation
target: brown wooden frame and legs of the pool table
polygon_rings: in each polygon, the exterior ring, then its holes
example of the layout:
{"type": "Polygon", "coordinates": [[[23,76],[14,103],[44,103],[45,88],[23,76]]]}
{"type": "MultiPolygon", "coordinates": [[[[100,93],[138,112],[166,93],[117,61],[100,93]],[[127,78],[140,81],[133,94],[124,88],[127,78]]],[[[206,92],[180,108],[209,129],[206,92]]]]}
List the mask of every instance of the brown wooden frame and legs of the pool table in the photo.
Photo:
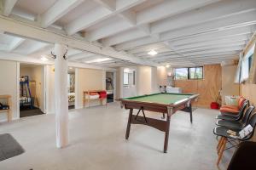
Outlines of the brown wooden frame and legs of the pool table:
{"type": "Polygon", "coordinates": [[[176,113],[176,111],[186,111],[186,112],[189,112],[190,122],[192,123],[193,122],[192,102],[195,101],[195,99],[197,99],[198,96],[199,94],[192,94],[191,96],[189,96],[189,98],[181,99],[169,105],[152,103],[152,102],[135,101],[132,99],[120,99],[121,108],[125,107],[125,109],[130,110],[127,127],[126,127],[125,139],[129,138],[131,124],[143,124],[149,127],[157,128],[160,131],[163,131],[166,133],[165,143],[164,143],[164,152],[166,153],[168,149],[171,116],[174,113],[176,113]],[[144,116],[138,116],[138,113],[137,113],[137,116],[135,116],[132,114],[134,109],[138,109],[139,111],[154,111],[164,115],[166,114],[167,115],[166,120],[159,120],[159,119],[154,119],[154,118],[149,118],[144,116]]]}

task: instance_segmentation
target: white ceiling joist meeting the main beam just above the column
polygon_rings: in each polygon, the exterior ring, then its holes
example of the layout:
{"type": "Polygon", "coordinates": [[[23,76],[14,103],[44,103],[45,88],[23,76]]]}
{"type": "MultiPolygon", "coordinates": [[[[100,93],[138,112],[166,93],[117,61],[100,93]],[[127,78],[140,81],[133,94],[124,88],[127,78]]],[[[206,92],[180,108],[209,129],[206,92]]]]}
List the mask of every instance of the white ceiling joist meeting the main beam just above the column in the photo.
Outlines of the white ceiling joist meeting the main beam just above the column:
{"type": "Polygon", "coordinates": [[[67,31],[68,35],[73,35],[78,31],[84,30],[89,26],[96,25],[102,20],[106,20],[114,14],[124,12],[128,8],[131,8],[139,3],[143,3],[144,1],[145,0],[117,0],[115,11],[111,11],[108,8],[105,8],[104,6],[99,6],[87,12],[86,14],[83,14],[78,19],[73,20],[71,23],[67,24],[67,26],[65,26],[65,30],[67,31]]]}

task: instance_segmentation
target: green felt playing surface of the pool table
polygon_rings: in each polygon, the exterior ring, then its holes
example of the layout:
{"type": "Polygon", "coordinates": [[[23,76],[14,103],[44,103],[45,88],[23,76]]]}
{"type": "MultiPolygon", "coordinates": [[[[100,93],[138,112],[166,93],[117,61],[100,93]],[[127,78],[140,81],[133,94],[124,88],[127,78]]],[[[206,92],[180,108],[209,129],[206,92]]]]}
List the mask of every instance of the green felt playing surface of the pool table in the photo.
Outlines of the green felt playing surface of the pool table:
{"type": "Polygon", "coordinates": [[[141,101],[148,103],[159,103],[164,105],[174,104],[177,101],[187,99],[193,94],[150,94],[137,96],[132,98],[126,98],[133,101],[141,101]]]}

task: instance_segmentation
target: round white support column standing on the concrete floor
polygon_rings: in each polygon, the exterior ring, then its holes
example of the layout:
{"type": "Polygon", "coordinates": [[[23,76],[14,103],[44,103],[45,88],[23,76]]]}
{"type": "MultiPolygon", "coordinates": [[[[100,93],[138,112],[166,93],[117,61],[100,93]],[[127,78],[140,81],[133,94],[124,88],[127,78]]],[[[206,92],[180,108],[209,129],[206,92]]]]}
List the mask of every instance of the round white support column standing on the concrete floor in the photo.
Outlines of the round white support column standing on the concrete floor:
{"type": "Polygon", "coordinates": [[[68,100],[67,60],[63,58],[67,47],[55,44],[55,123],[56,145],[62,148],[68,144],[68,100]]]}

